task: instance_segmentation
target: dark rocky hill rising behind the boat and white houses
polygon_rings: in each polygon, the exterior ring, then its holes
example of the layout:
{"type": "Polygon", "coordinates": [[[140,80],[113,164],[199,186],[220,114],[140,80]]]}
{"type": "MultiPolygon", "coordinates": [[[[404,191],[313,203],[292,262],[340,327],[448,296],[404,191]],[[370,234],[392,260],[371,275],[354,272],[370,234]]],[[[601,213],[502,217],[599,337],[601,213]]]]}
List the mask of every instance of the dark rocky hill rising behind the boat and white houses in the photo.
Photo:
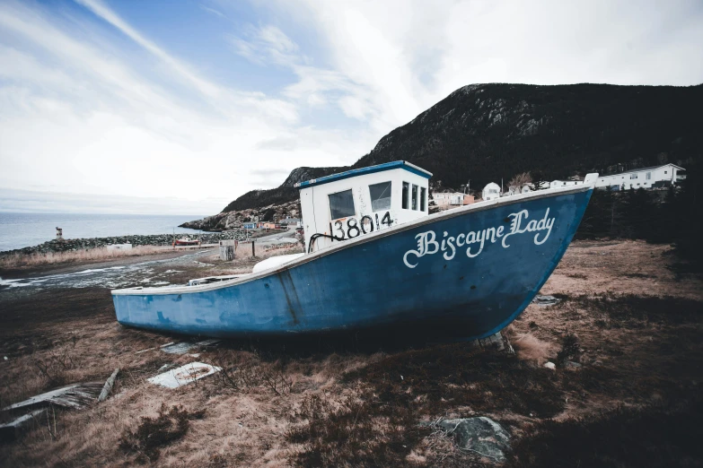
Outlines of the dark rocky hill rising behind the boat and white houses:
{"type": "MultiPolygon", "coordinates": [[[[435,185],[470,179],[478,189],[525,171],[551,180],[663,162],[686,167],[703,153],[702,105],[703,84],[471,84],[382,137],[352,168],[409,160],[433,172],[435,185]]],[[[294,169],[281,186],[248,192],[210,221],[183,226],[226,229],[223,219],[246,217],[236,212],[270,212],[297,199],[294,183],[346,169],[294,169]]]]}

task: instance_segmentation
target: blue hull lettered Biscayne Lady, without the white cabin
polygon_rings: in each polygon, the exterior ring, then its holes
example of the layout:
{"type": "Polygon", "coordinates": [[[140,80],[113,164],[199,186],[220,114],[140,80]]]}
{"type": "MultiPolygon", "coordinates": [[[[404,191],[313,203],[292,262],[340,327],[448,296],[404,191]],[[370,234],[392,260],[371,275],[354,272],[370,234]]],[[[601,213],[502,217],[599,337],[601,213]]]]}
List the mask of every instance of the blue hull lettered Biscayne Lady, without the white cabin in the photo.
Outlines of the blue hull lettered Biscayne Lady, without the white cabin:
{"type": "Polygon", "coordinates": [[[592,192],[444,212],[239,282],[116,290],[117,319],[216,337],[390,327],[483,338],[512,322],[547,281],[592,192]]]}

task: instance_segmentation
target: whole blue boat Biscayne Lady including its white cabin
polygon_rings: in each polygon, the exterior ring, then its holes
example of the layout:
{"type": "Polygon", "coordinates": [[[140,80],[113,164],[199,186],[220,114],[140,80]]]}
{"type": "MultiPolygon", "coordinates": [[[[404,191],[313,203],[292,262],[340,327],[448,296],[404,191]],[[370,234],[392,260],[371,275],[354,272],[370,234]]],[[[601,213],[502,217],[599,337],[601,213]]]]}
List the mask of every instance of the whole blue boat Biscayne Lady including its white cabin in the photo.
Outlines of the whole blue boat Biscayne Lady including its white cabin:
{"type": "Polygon", "coordinates": [[[113,290],[122,325],[214,337],[411,329],[496,334],[564,255],[593,193],[583,184],[429,214],[405,161],[299,184],[305,253],[187,286],[113,290]],[[216,280],[216,281],[215,281],[216,280]]]}

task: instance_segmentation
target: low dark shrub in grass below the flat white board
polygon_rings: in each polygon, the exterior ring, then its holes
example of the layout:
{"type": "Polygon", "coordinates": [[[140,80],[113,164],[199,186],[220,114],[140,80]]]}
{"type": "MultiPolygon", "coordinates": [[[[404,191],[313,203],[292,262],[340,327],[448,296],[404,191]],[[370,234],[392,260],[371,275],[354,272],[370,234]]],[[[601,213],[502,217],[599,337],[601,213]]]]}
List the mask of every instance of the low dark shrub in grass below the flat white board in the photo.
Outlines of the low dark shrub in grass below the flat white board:
{"type": "Polygon", "coordinates": [[[205,416],[205,410],[188,412],[179,404],[171,409],[162,403],[159,413],[154,418],[143,416],[135,431],[126,430],[119,439],[119,447],[127,452],[136,452],[145,456],[150,462],[159,458],[163,446],[185,436],[190,420],[199,420],[205,416]]]}

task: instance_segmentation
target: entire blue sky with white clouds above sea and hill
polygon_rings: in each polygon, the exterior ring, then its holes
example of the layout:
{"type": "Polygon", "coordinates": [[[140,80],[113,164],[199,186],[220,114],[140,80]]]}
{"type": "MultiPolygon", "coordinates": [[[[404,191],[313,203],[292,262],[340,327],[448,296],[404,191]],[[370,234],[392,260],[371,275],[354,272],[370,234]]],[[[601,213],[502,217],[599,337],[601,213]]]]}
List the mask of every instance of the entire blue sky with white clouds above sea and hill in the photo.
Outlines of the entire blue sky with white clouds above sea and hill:
{"type": "Polygon", "coordinates": [[[0,211],[211,214],[477,82],[703,82],[703,2],[0,0],[0,211]]]}

